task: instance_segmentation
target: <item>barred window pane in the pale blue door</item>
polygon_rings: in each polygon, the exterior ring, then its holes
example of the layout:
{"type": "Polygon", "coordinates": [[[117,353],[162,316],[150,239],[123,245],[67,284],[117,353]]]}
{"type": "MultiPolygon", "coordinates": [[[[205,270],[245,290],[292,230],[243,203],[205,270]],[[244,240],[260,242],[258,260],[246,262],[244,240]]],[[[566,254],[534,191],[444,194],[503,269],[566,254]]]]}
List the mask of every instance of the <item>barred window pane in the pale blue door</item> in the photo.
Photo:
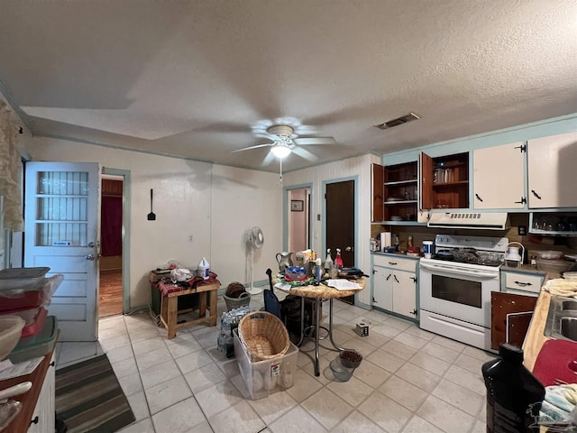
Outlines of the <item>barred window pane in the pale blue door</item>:
{"type": "Polygon", "coordinates": [[[36,245],[86,246],[88,173],[41,171],[37,179],[36,245]]]}

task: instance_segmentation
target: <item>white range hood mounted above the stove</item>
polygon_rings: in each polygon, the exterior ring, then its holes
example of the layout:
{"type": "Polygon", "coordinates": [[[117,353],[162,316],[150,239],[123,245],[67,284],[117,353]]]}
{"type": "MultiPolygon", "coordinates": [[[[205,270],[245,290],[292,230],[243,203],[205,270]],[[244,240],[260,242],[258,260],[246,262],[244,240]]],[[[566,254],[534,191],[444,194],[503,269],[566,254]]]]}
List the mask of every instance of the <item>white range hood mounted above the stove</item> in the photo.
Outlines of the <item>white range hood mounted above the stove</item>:
{"type": "Polygon", "coordinates": [[[507,213],[484,213],[469,211],[432,212],[427,223],[436,228],[473,228],[505,230],[508,228],[507,213]]]}

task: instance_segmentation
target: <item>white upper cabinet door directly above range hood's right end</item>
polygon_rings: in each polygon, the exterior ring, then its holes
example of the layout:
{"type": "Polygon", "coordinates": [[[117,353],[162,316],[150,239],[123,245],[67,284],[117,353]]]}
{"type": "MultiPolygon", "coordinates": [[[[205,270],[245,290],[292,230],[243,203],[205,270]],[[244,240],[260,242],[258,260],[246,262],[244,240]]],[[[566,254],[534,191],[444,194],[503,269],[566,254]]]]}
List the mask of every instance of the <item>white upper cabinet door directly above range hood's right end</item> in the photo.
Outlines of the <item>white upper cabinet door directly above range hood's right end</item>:
{"type": "Polygon", "coordinates": [[[475,209],[525,207],[522,146],[523,143],[510,143],[473,152],[475,209]]]}

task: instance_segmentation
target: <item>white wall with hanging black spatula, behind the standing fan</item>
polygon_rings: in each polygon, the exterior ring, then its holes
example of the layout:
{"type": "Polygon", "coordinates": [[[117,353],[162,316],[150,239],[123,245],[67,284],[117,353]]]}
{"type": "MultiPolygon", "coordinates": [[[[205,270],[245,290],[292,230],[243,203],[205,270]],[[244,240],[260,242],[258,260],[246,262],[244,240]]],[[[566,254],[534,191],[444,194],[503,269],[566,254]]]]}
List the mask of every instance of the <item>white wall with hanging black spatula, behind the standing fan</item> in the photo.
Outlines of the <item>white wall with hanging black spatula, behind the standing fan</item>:
{"type": "Polygon", "coordinates": [[[282,189],[276,173],[128,152],[85,143],[34,137],[33,161],[99,162],[130,170],[130,307],[150,301],[152,269],[178,260],[197,267],[203,256],[226,287],[246,282],[244,231],[261,226],[264,246],[255,253],[255,280],[266,280],[282,250],[282,189]],[[156,221],[148,221],[154,189],[156,221]],[[193,242],[188,236],[193,235],[193,242]]]}

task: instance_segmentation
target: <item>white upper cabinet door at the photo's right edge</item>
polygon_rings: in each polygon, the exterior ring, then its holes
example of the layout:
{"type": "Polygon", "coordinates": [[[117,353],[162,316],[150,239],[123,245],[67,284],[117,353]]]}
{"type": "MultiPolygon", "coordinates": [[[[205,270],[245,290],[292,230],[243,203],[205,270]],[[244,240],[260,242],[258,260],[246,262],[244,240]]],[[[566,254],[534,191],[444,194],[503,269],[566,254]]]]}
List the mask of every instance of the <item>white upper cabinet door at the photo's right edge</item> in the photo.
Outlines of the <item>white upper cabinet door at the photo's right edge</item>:
{"type": "Polygon", "coordinates": [[[536,138],[527,143],[529,207],[575,207],[577,133],[536,138]]]}

